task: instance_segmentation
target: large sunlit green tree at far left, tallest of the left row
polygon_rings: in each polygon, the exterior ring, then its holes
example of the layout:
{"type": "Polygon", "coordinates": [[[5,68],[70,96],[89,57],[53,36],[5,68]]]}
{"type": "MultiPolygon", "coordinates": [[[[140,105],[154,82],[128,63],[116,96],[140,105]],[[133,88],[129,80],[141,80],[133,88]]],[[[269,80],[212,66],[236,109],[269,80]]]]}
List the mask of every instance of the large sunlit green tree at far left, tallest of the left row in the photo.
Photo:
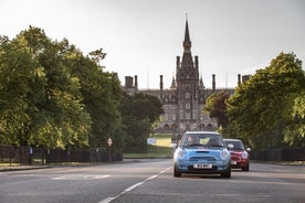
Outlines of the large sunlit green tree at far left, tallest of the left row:
{"type": "Polygon", "coordinates": [[[66,47],[33,26],[1,44],[2,143],[87,146],[91,118],[78,78],[62,63],[66,47]]]}

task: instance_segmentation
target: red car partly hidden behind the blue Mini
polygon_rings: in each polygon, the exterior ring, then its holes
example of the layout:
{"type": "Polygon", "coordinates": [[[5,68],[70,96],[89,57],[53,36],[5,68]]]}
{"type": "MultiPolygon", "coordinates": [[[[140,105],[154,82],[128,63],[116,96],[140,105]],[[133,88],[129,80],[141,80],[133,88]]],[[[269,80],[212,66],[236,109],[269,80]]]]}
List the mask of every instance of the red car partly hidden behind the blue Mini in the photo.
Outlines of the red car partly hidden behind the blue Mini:
{"type": "Polygon", "coordinates": [[[231,168],[249,171],[249,153],[250,148],[244,148],[244,145],[239,139],[223,139],[224,143],[231,153],[231,168]]]}

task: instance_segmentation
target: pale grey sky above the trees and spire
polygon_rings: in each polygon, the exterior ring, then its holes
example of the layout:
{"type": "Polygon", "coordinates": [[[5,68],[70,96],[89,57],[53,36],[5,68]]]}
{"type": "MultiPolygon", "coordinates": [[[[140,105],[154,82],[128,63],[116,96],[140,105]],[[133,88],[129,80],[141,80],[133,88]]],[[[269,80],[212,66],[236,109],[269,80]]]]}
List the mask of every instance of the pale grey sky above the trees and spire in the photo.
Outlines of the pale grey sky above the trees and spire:
{"type": "Polygon", "coordinates": [[[105,71],[138,77],[138,87],[169,88],[182,56],[186,18],[192,56],[207,88],[232,88],[281,52],[305,63],[304,0],[0,0],[0,35],[30,25],[67,39],[85,55],[103,49],[105,71]],[[188,14],[186,14],[188,13],[188,14]]]}

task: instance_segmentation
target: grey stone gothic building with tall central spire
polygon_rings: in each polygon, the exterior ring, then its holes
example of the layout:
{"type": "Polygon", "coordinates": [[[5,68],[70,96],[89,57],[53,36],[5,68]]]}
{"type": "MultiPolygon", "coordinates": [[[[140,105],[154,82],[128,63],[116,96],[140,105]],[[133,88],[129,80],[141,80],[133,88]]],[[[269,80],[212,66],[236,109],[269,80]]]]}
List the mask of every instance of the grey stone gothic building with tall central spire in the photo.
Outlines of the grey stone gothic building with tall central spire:
{"type": "Polygon", "coordinates": [[[165,114],[161,116],[159,125],[156,126],[156,131],[213,130],[217,128],[215,120],[203,113],[206,99],[211,94],[222,90],[232,95],[234,89],[215,88],[215,75],[212,75],[212,88],[204,87],[202,77],[199,77],[199,58],[198,56],[193,57],[191,53],[188,21],[186,21],[182,46],[182,57],[177,56],[176,78],[172,78],[170,88],[164,88],[162,75],[160,75],[159,89],[138,89],[137,76],[135,76],[135,84],[133,84],[133,77],[125,77],[124,88],[129,94],[140,92],[156,96],[164,104],[165,114]]]}

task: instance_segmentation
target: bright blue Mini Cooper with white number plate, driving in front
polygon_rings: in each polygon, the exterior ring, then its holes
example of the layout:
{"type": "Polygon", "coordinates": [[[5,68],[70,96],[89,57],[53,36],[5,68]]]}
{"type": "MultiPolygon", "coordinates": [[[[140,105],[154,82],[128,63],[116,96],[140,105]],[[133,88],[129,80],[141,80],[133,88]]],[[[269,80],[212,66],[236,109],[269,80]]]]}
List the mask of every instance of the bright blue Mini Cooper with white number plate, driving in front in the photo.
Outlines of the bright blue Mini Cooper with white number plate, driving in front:
{"type": "Polygon", "coordinates": [[[173,177],[182,173],[231,178],[230,152],[213,131],[187,131],[173,153],[173,177]]]}

